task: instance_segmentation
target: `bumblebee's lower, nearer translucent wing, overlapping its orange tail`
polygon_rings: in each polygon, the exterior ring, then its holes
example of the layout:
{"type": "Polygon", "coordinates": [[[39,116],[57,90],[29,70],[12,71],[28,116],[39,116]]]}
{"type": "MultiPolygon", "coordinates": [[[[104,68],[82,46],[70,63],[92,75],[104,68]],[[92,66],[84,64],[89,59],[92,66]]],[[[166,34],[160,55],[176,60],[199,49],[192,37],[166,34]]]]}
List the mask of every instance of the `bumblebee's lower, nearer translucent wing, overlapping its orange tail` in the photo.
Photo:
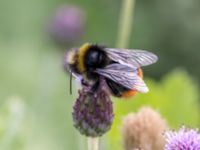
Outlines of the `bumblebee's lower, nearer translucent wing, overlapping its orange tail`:
{"type": "Polygon", "coordinates": [[[142,93],[149,91],[144,81],[137,75],[137,69],[116,63],[97,69],[95,72],[130,90],[142,93]]]}

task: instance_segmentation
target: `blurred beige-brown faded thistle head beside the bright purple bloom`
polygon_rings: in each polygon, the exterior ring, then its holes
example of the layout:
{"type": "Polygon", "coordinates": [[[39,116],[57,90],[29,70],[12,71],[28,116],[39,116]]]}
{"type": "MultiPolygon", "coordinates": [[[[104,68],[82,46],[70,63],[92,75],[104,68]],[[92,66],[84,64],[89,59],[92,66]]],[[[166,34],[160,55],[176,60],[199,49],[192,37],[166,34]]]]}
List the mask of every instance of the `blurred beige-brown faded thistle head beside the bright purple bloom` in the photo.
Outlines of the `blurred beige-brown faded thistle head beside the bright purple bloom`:
{"type": "Polygon", "coordinates": [[[125,150],[161,150],[165,139],[162,134],[167,129],[165,120],[158,112],[143,107],[138,113],[130,113],[123,120],[122,134],[125,150]]]}

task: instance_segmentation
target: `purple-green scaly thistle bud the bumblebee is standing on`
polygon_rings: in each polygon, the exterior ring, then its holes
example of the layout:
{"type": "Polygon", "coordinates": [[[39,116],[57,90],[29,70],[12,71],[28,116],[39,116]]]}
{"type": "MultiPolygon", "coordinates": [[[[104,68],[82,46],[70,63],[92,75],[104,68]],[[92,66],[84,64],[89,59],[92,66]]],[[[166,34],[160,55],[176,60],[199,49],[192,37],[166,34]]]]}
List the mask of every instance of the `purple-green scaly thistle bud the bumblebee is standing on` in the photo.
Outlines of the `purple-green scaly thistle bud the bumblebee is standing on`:
{"type": "Polygon", "coordinates": [[[91,93],[86,88],[79,91],[73,109],[74,126],[83,134],[98,137],[107,132],[113,121],[112,101],[104,85],[91,93]]]}

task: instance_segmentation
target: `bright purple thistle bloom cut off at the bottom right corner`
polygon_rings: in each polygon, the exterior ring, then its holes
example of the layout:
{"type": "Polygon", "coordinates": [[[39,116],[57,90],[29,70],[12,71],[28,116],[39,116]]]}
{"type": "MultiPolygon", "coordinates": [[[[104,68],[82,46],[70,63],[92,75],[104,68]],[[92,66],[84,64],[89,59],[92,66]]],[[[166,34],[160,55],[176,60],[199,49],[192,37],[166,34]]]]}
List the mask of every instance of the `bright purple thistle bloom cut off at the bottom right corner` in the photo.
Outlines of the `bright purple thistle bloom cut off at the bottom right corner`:
{"type": "Polygon", "coordinates": [[[200,133],[197,129],[182,127],[178,132],[166,132],[165,137],[165,150],[200,150],[200,133]]]}

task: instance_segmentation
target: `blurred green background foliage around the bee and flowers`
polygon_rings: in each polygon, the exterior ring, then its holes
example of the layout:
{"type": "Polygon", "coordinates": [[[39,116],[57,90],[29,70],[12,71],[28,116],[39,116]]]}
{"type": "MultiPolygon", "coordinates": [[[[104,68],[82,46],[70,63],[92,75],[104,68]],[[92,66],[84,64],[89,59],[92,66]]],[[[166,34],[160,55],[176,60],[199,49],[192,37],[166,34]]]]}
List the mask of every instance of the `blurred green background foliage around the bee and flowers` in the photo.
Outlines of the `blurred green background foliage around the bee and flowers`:
{"type": "MultiPolygon", "coordinates": [[[[73,127],[77,89],[69,94],[63,57],[66,49],[84,42],[115,47],[121,2],[0,0],[1,150],[86,149],[86,138],[73,127]],[[63,5],[74,5],[83,14],[81,36],[76,41],[69,36],[66,45],[49,31],[63,5]]],[[[115,121],[101,139],[102,150],[111,144],[122,149],[121,118],[142,105],[158,110],[172,128],[200,127],[199,6],[199,0],[136,1],[129,48],[150,50],[159,61],[144,68],[148,94],[113,99],[115,121]]]]}

